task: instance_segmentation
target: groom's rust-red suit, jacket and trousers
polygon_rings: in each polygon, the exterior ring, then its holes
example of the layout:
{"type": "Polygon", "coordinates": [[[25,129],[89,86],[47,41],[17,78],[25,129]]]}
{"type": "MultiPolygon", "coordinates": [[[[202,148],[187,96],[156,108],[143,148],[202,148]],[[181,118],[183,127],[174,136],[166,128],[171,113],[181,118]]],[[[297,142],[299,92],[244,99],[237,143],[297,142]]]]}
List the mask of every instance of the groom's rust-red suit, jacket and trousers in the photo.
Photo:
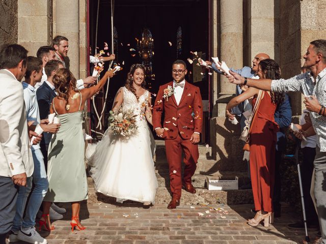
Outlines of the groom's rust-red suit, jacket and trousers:
{"type": "Polygon", "coordinates": [[[185,82],[179,104],[174,95],[168,101],[163,98],[164,89],[173,81],[159,87],[153,106],[153,128],[166,128],[166,154],[169,163],[170,187],[173,198],[180,199],[181,184],[191,184],[191,177],[196,170],[199,158],[198,145],[190,138],[194,132],[202,132],[203,105],[200,90],[197,86],[185,82]],[[161,125],[161,115],[164,112],[164,122],[161,125]],[[167,130],[168,129],[168,130],[167,130]],[[181,179],[181,154],[184,153],[184,173],[181,179]]]}

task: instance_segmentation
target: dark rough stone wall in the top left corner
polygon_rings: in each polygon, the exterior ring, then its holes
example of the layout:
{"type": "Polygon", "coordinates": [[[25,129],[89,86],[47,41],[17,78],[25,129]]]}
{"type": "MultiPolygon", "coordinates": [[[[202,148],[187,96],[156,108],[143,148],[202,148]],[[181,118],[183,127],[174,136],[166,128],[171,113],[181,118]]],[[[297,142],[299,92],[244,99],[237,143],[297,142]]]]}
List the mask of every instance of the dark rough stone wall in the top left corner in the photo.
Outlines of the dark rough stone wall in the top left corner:
{"type": "Polygon", "coordinates": [[[0,0],[0,16],[0,45],[17,43],[17,1],[0,0]]]}

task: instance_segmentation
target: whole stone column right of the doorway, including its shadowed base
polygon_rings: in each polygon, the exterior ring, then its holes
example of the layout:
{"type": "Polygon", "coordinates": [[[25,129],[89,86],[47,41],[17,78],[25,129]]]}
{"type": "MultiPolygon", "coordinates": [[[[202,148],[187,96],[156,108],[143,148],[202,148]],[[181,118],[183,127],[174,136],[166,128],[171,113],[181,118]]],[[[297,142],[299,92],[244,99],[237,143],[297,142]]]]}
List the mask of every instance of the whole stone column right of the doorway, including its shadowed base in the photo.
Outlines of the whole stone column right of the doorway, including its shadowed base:
{"type": "MultiPolygon", "coordinates": [[[[216,6],[220,19],[215,26],[218,40],[213,42],[213,54],[231,68],[242,68],[242,1],[220,0],[216,6]],[[215,50],[215,46],[218,50],[215,50]]],[[[214,8],[213,8],[214,10],[214,8]]],[[[214,33],[214,32],[213,32],[214,33]]],[[[241,161],[241,142],[238,140],[239,126],[232,125],[225,117],[226,104],[235,94],[235,85],[225,76],[218,75],[218,98],[214,102],[213,118],[210,121],[212,157],[216,159],[216,170],[243,171],[246,165],[241,161]]],[[[214,91],[215,92],[215,91],[214,91]]]]}

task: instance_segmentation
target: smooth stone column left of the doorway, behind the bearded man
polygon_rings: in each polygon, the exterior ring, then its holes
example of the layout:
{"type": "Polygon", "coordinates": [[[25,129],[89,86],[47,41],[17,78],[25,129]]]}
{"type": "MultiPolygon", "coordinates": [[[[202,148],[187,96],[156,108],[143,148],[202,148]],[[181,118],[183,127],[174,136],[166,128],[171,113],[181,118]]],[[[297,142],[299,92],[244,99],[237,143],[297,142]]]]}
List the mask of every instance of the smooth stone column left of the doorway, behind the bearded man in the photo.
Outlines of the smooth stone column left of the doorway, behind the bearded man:
{"type": "Polygon", "coordinates": [[[69,40],[70,71],[79,78],[79,1],[56,0],[56,35],[69,40]]]}

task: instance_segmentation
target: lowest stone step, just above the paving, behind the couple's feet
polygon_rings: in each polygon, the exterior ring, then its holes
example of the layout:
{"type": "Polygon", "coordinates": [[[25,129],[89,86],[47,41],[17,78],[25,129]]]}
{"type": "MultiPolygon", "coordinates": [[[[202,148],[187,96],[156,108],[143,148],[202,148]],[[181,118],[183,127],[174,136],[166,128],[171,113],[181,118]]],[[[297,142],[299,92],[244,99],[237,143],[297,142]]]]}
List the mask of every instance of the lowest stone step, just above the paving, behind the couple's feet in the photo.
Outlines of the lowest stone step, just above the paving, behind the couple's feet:
{"type": "MultiPolygon", "coordinates": [[[[224,204],[244,204],[253,203],[251,190],[228,190],[228,191],[208,191],[207,189],[196,189],[195,194],[182,190],[182,205],[208,205],[216,203],[224,204]]],[[[115,203],[116,199],[96,193],[94,188],[89,188],[88,203],[115,203]]],[[[171,200],[169,188],[160,187],[157,189],[155,204],[168,204],[171,200]]],[[[129,201],[128,201],[129,202],[129,201]]]]}

